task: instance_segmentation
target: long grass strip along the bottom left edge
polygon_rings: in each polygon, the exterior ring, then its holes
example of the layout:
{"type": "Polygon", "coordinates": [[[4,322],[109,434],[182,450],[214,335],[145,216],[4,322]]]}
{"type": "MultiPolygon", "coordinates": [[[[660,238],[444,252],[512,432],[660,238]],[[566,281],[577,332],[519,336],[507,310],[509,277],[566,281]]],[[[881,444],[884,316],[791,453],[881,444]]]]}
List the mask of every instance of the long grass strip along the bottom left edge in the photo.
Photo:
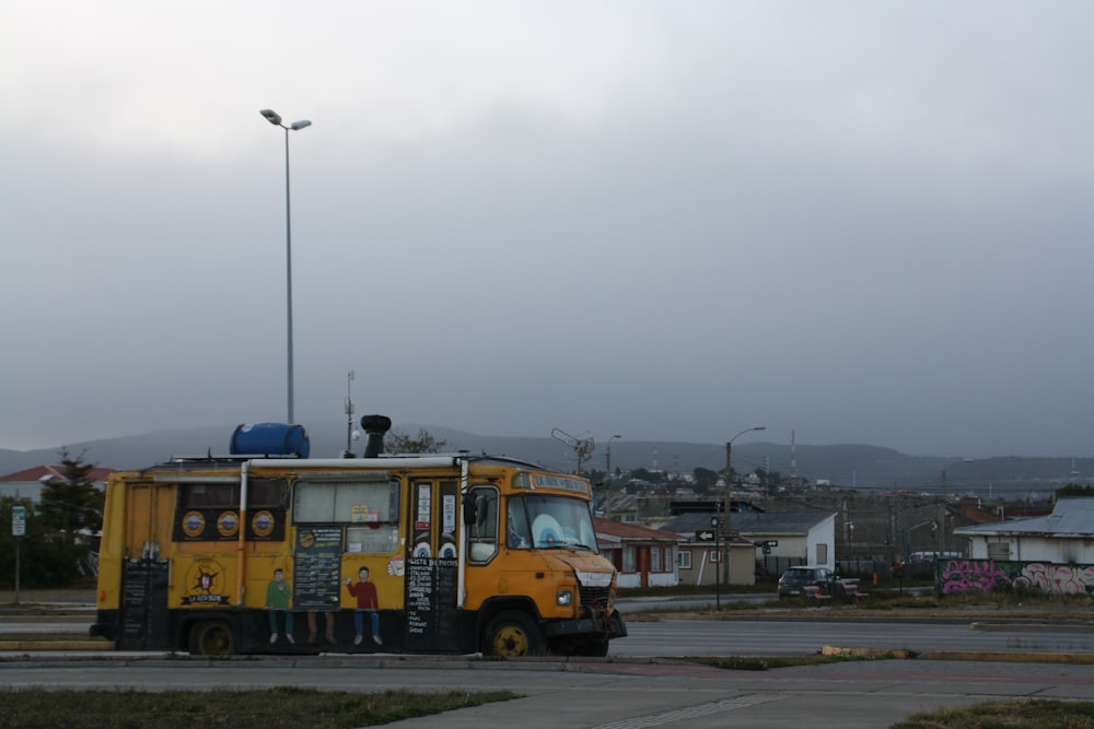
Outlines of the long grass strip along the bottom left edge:
{"type": "Polygon", "coordinates": [[[509,701],[508,691],[351,693],[282,686],[264,691],[0,692],[11,729],[352,729],[509,701]]]}

